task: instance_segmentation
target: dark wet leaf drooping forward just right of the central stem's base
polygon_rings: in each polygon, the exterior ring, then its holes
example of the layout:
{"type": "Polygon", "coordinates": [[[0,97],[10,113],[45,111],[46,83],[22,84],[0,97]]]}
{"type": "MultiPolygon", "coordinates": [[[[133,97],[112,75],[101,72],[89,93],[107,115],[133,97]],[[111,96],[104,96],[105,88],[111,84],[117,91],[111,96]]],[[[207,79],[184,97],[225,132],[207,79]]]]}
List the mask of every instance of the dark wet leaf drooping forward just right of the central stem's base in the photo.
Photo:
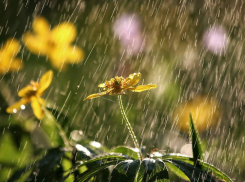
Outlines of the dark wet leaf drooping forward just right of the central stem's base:
{"type": "Polygon", "coordinates": [[[161,159],[146,158],[142,161],[135,182],[168,182],[168,170],[161,159]]]}

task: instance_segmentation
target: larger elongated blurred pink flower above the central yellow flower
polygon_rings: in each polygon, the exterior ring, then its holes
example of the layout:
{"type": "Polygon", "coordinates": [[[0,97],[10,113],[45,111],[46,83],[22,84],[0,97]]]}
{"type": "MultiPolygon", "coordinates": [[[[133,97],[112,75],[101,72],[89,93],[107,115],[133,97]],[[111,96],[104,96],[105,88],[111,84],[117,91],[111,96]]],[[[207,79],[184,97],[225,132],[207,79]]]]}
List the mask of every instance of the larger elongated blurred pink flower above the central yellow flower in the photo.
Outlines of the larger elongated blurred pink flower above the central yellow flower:
{"type": "Polygon", "coordinates": [[[137,54],[144,47],[141,23],[137,16],[120,16],[113,25],[113,31],[127,52],[137,54]]]}

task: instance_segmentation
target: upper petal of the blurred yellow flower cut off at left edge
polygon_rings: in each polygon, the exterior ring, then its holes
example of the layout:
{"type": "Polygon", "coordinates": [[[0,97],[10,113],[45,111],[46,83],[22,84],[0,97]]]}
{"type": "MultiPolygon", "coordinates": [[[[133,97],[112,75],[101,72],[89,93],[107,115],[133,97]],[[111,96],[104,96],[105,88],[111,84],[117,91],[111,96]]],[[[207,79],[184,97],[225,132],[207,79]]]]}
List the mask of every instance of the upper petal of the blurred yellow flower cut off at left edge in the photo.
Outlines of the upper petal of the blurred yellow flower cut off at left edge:
{"type": "Polygon", "coordinates": [[[8,39],[3,50],[4,54],[15,56],[20,51],[20,43],[16,39],[8,39]]]}

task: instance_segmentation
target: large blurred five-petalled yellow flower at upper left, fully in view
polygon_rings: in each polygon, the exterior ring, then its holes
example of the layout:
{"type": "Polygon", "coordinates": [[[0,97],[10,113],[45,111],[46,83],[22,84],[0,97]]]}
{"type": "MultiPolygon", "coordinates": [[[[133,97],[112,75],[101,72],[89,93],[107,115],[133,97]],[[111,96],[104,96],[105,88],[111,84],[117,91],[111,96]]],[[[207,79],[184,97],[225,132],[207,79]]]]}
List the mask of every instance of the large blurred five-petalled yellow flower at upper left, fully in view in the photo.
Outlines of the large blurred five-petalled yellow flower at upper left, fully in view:
{"type": "Polygon", "coordinates": [[[50,30],[47,20],[38,17],[33,21],[32,29],[34,33],[23,35],[25,46],[34,54],[47,56],[55,68],[65,69],[67,63],[83,60],[83,50],[71,45],[77,35],[72,23],[63,22],[50,30]]]}

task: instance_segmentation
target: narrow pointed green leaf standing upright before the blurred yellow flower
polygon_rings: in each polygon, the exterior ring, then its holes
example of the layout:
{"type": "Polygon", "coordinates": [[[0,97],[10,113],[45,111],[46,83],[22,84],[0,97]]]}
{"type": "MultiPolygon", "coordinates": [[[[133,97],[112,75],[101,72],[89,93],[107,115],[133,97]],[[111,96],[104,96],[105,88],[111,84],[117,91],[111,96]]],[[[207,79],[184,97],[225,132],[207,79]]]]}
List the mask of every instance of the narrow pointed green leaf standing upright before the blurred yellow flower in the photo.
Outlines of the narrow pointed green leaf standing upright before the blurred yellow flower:
{"type": "Polygon", "coordinates": [[[191,114],[190,114],[190,138],[192,143],[193,158],[195,160],[197,167],[201,168],[201,164],[198,162],[198,160],[203,160],[201,140],[198,136],[198,131],[194,125],[191,114]]]}

